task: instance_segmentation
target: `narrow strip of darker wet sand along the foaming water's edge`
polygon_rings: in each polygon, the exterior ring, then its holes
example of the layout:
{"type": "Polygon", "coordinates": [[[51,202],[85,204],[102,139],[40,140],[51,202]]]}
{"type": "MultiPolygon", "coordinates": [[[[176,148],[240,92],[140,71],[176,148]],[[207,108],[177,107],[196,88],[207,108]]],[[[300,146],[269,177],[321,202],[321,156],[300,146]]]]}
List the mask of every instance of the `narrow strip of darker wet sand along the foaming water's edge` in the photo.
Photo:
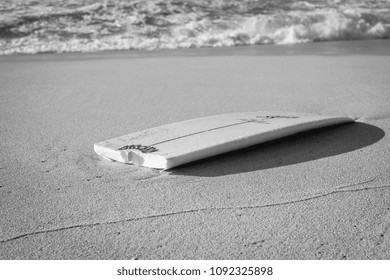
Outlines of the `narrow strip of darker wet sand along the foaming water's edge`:
{"type": "Polygon", "coordinates": [[[322,41],[286,45],[2,55],[0,61],[93,60],[192,56],[390,55],[390,39],[322,41]]]}

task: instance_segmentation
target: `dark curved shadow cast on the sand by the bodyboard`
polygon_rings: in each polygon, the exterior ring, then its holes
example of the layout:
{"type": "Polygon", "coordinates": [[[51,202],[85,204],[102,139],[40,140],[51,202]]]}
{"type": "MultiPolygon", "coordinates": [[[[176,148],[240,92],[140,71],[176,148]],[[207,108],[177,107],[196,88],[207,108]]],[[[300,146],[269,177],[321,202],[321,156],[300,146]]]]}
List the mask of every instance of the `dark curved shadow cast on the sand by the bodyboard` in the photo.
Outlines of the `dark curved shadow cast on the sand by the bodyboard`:
{"type": "Polygon", "coordinates": [[[315,129],[171,169],[174,175],[216,177],[276,168],[348,153],[378,142],[385,132],[355,122],[315,129]]]}

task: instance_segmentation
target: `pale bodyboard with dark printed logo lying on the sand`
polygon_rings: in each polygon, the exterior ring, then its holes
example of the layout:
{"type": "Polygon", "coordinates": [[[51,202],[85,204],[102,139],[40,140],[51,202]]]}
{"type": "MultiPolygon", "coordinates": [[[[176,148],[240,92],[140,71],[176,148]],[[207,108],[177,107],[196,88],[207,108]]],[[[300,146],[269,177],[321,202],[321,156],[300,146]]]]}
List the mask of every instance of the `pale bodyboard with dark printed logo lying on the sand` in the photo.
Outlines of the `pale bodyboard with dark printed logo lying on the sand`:
{"type": "Polygon", "coordinates": [[[112,161],[170,169],[310,129],[353,121],[306,113],[232,113],[134,132],[96,143],[94,150],[112,161]]]}

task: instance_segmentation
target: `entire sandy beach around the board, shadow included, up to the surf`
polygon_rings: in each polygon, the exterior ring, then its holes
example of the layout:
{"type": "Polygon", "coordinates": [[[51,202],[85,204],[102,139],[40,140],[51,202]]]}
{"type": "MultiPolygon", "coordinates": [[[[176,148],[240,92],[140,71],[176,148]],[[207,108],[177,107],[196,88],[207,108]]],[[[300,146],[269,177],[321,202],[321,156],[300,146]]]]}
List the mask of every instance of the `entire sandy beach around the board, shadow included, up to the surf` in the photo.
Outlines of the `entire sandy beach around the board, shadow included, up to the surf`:
{"type": "Polygon", "coordinates": [[[1,259],[389,259],[388,40],[0,58],[1,259]],[[93,144],[220,113],[345,115],[171,172],[93,144]]]}

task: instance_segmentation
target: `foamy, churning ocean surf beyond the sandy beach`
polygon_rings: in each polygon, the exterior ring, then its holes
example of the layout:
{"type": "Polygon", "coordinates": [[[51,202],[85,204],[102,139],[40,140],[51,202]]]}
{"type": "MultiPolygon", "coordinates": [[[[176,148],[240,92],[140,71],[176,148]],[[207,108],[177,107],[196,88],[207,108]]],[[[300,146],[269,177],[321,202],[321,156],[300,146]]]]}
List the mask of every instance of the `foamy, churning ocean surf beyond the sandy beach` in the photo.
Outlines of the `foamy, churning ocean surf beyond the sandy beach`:
{"type": "Polygon", "coordinates": [[[0,54],[390,38],[390,1],[0,0],[0,54]]]}

